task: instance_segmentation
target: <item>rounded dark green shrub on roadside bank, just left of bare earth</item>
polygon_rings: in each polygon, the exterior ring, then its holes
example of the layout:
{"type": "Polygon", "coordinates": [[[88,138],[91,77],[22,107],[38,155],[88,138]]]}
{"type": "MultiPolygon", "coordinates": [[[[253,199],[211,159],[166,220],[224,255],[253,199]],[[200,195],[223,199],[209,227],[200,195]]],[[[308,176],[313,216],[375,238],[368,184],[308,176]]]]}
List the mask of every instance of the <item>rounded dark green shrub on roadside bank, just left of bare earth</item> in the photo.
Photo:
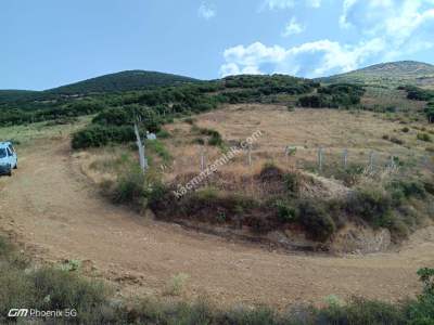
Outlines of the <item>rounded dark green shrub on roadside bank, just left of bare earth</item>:
{"type": "Polygon", "coordinates": [[[335,232],[333,219],[320,203],[303,200],[298,205],[298,221],[314,239],[326,242],[335,232]]]}

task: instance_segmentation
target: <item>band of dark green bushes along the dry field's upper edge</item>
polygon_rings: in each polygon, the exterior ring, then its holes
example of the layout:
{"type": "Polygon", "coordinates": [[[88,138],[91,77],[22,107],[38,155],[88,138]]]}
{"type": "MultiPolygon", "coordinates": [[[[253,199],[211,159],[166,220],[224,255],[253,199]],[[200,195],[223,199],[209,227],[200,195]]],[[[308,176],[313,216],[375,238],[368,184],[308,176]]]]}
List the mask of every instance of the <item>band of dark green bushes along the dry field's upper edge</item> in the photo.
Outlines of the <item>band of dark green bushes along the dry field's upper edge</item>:
{"type": "Polygon", "coordinates": [[[149,90],[128,96],[101,112],[91,126],[77,132],[75,148],[128,142],[135,139],[132,119],[141,117],[144,128],[157,132],[175,117],[200,114],[222,104],[283,103],[304,107],[345,107],[357,105],[363,89],[352,84],[321,87],[307,79],[282,75],[237,76],[181,87],[149,90]]]}

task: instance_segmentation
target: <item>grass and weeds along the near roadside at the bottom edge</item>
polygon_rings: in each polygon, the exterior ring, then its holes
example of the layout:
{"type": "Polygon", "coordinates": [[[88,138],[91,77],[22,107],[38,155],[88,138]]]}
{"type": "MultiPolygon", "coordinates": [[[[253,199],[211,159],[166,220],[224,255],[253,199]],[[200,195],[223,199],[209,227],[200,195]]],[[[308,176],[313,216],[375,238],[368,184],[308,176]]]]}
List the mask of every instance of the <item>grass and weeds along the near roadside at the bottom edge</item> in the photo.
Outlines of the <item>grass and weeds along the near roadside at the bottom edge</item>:
{"type": "MultiPolygon", "coordinates": [[[[97,280],[85,278],[78,271],[52,266],[31,268],[13,245],[0,237],[0,322],[20,322],[7,318],[9,310],[36,308],[39,310],[76,309],[74,324],[431,324],[434,320],[434,270],[418,272],[423,288],[414,299],[387,303],[353,298],[348,302],[328,299],[322,308],[294,306],[280,313],[267,307],[232,308],[222,310],[205,301],[196,303],[165,302],[137,298],[114,303],[113,290],[97,280]],[[11,285],[13,284],[13,285],[11,285]]],[[[179,273],[167,285],[166,294],[182,294],[188,275],[179,273]]],[[[404,298],[404,297],[403,297],[404,298]]],[[[51,324],[44,320],[31,320],[51,324]]]]}

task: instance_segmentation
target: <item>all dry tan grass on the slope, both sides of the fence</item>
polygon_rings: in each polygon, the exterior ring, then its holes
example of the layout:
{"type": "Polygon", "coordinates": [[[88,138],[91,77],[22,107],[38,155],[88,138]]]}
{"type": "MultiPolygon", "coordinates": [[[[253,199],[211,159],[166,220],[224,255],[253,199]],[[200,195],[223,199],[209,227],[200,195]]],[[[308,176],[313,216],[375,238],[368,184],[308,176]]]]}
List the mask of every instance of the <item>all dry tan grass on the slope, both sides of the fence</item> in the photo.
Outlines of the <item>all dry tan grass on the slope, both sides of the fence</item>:
{"type": "MultiPolygon", "coordinates": [[[[252,166],[247,164],[247,152],[241,151],[229,164],[218,168],[217,178],[220,181],[216,182],[221,182],[222,187],[259,198],[263,194],[252,185],[252,180],[265,164],[272,162],[282,170],[298,168],[305,172],[317,171],[318,147],[323,147],[324,172],[319,182],[332,193],[343,193],[345,191],[340,186],[332,190],[336,182],[324,177],[340,179],[336,172],[333,174],[333,170],[343,167],[344,148],[348,151],[348,164],[361,167],[368,166],[370,153],[374,151],[378,172],[390,164],[393,155],[399,157],[405,166],[412,166],[409,170],[414,173],[422,158],[431,155],[426,152],[426,143],[417,140],[418,130],[429,128],[426,123],[413,121],[407,125],[408,131],[404,132],[399,121],[382,116],[370,112],[337,109],[301,108],[288,112],[283,106],[264,104],[229,105],[195,116],[194,126],[183,120],[167,125],[165,128],[173,136],[161,142],[174,160],[166,166],[155,154],[150,154],[150,160],[166,182],[176,180],[177,183],[187,183],[201,172],[202,154],[208,166],[225,154],[225,148],[194,144],[195,139],[205,139],[194,128],[217,130],[227,148],[260,130],[263,135],[252,148],[252,166]],[[388,140],[383,139],[385,134],[388,140]],[[393,143],[391,139],[399,139],[404,144],[393,143]],[[284,148],[288,145],[296,147],[295,155],[285,156],[284,148]]],[[[135,152],[127,146],[92,150],[84,155],[87,157],[82,160],[82,169],[97,183],[113,180],[118,174],[118,168],[122,168],[119,157],[137,159],[135,152]]],[[[421,171],[429,172],[424,169],[421,171]]],[[[315,188],[318,191],[318,186],[315,188]]]]}

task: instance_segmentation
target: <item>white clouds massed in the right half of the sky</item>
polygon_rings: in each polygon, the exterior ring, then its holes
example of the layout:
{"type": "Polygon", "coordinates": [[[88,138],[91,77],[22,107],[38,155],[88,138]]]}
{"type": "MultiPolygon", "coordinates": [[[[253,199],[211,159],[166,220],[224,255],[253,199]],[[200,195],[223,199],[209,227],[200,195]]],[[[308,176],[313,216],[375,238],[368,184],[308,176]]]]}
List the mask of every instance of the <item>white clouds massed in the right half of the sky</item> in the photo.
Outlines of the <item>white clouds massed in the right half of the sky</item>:
{"type": "MultiPolygon", "coordinates": [[[[302,0],[298,0],[302,1],[302,0]]],[[[307,0],[306,0],[307,1],[307,0]]],[[[309,1],[312,4],[316,1],[309,1]]],[[[270,9],[286,9],[294,1],[268,0],[270,9]]],[[[286,73],[318,77],[344,73],[379,61],[405,60],[434,48],[434,0],[343,0],[343,29],[356,39],[350,43],[321,39],[295,47],[267,47],[261,42],[238,46],[224,53],[221,75],[286,73]]],[[[301,32],[294,18],[286,35],[301,32]]]]}

